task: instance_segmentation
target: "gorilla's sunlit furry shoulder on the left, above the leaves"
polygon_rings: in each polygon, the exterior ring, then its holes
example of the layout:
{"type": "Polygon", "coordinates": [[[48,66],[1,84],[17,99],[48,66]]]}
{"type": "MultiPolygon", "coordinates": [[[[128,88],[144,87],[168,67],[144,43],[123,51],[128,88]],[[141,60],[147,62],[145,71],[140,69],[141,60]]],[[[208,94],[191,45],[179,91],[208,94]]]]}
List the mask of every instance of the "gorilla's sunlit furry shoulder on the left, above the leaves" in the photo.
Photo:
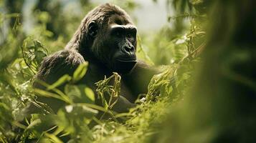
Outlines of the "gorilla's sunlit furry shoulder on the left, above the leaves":
{"type": "Polygon", "coordinates": [[[37,78],[47,82],[46,79],[54,80],[64,74],[72,74],[83,62],[85,62],[85,59],[82,55],[73,49],[57,51],[44,58],[37,73],[37,78]]]}

